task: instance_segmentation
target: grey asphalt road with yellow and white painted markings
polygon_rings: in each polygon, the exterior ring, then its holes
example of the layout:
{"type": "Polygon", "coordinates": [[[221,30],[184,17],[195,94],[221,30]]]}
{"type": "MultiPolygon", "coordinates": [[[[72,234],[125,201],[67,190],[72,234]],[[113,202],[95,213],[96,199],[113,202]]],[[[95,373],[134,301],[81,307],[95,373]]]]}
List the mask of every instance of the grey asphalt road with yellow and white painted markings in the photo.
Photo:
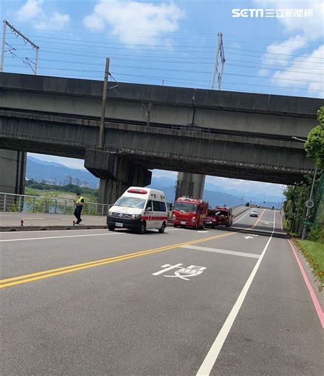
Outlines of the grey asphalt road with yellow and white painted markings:
{"type": "Polygon", "coordinates": [[[319,317],[278,212],[260,213],[1,233],[1,375],[320,375],[319,317]]]}

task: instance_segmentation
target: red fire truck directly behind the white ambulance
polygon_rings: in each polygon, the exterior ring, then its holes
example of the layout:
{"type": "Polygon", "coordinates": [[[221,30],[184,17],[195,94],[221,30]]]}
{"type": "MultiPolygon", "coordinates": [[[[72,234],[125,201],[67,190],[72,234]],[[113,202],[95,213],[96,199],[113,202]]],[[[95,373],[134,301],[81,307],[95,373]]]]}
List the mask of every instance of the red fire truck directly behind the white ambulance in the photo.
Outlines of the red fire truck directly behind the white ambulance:
{"type": "Polygon", "coordinates": [[[173,226],[187,226],[195,230],[204,228],[208,212],[208,202],[200,198],[180,197],[174,204],[173,226]]]}

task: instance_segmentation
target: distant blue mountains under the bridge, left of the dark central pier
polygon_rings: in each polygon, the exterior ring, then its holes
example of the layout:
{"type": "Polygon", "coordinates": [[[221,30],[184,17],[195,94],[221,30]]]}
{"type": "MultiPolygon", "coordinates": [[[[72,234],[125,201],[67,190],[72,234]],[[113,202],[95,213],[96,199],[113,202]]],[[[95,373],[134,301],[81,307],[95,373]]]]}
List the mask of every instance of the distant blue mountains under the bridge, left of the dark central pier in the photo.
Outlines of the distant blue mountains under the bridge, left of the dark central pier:
{"type": "Polygon", "coordinates": [[[85,180],[90,187],[96,188],[98,178],[93,176],[87,170],[78,170],[76,168],[66,167],[61,163],[46,162],[34,157],[27,157],[26,178],[41,181],[42,179],[57,180],[64,184],[65,176],[70,175],[80,180],[85,180]]]}

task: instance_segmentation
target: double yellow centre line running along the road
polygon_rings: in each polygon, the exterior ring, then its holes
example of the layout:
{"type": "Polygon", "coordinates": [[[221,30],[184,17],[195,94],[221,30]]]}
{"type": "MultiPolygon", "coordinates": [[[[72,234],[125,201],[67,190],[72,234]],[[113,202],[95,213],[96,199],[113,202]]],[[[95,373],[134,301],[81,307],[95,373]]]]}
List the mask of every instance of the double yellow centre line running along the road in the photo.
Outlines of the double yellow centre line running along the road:
{"type": "MultiPolygon", "coordinates": [[[[256,221],[256,223],[252,227],[248,228],[247,230],[254,228],[256,226],[256,224],[258,224],[258,221],[260,221],[263,213],[265,213],[265,210],[262,212],[262,214],[260,215],[260,218],[256,221]]],[[[225,234],[214,235],[213,237],[206,237],[206,238],[203,238],[203,239],[186,241],[184,243],[165,245],[163,247],[153,248],[151,250],[145,250],[145,251],[141,251],[141,252],[133,252],[131,254],[123,254],[123,255],[120,255],[120,256],[113,256],[113,257],[109,257],[109,258],[103,258],[103,259],[100,259],[100,260],[88,261],[87,263],[70,265],[68,267],[60,267],[60,268],[57,268],[57,269],[49,269],[49,270],[45,270],[45,271],[38,271],[37,273],[25,274],[23,276],[6,278],[5,280],[0,280],[0,288],[10,287],[10,286],[14,286],[16,284],[23,284],[23,283],[27,283],[27,282],[36,281],[36,280],[42,280],[44,278],[59,276],[61,274],[66,274],[66,273],[72,273],[73,271],[88,269],[90,267],[98,267],[100,265],[107,265],[107,264],[111,264],[111,263],[116,263],[118,261],[129,260],[130,258],[146,256],[147,254],[164,252],[164,251],[167,251],[167,250],[172,250],[172,249],[177,248],[177,247],[181,247],[183,245],[191,245],[191,244],[195,244],[195,243],[201,243],[203,241],[219,239],[221,237],[228,237],[230,235],[234,235],[234,234],[237,234],[237,233],[238,232],[226,232],[225,234]]]]}

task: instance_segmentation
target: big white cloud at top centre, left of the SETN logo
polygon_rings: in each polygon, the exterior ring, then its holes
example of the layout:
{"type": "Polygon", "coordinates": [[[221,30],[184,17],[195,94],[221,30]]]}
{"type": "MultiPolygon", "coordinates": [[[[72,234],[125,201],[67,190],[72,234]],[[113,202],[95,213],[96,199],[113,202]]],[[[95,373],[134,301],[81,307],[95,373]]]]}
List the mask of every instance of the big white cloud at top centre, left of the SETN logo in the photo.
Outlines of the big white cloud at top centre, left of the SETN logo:
{"type": "Polygon", "coordinates": [[[163,33],[176,31],[184,12],[173,3],[100,0],[83,24],[90,29],[112,27],[111,34],[128,44],[156,44],[149,38],[163,38],[163,33]],[[140,31],[139,31],[140,30],[140,31]]]}

